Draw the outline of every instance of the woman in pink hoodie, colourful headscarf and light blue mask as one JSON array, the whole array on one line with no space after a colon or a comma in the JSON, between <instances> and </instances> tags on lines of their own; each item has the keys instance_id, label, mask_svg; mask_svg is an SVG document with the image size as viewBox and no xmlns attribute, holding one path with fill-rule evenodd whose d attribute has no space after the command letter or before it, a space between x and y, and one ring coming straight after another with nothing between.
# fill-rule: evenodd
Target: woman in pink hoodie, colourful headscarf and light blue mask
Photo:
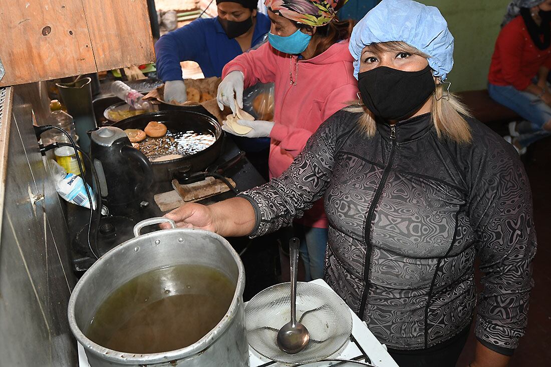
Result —
<instances>
[{"instance_id":1,"label":"woman in pink hoodie, colourful headscarf and light blue mask","mask_svg":"<svg viewBox=\"0 0 551 367\"><path fill-rule=\"evenodd\" d=\"M348 52L352 21L336 13L347 0L266 0L272 27L268 41L226 64L218 88L218 104L235 112L243 107L244 88L274 82L274 122L239 120L250 138L270 137L270 178L279 177L306 141L329 116L357 99L353 58ZM295 222L300 233L306 280L323 277L327 218L322 200Z\"/></svg>"}]
</instances>

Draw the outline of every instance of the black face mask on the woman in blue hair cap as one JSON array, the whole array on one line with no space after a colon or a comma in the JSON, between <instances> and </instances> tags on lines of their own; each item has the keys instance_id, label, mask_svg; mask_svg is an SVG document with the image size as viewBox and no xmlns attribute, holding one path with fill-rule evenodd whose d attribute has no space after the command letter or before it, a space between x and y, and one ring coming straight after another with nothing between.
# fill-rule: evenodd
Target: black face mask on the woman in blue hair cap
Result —
<instances>
[{"instance_id":1,"label":"black face mask on the woman in blue hair cap","mask_svg":"<svg viewBox=\"0 0 551 367\"><path fill-rule=\"evenodd\" d=\"M403 120L419 110L435 90L430 66L404 72L386 66L358 74L365 106L384 120Z\"/></svg>"}]
</instances>

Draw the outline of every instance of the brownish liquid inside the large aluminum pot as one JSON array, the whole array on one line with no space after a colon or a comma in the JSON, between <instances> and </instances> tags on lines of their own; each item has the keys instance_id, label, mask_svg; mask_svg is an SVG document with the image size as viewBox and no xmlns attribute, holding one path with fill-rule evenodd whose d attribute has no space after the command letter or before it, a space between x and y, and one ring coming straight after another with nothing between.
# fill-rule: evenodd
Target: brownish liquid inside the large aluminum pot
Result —
<instances>
[{"instance_id":1,"label":"brownish liquid inside the large aluminum pot","mask_svg":"<svg viewBox=\"0 0 551 367\"><path fill-rule=\"evenodd\" d=\"M235 287L223 273L202 265L155 269L116 289L100 305L86 336L125 353L184 348L222 320Z\"/></svg>"}]
</instances>

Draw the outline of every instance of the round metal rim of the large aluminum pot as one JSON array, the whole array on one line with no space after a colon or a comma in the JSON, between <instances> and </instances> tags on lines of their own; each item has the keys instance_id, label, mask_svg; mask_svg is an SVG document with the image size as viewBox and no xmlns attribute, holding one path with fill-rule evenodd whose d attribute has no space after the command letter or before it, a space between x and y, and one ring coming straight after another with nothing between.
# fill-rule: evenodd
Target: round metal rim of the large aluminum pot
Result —
<instances>
[{"instance_id":1,"label":"round metal rim of the large aluminum pot","mask_svg":"<svg viewBox=\"0 0 551 367\"><path fill-rule=\"evenodd\" d=\"M237 277L237 284L235 287L234 297L231 300L229 309L226 312L226 314L222 317L222 319L220 319L217 325L212 328L212 330L210 330L205 336L203 336L197 342L191 344L191 346L170 350L169 352L145 353L145 354L123 353L123 352L118 352L117 350L102 347L99 344L91 341L87 336L85 336L85 334L82 332L82 330L80 330L80 328L77 325L77 320L75 319L75 315L74 315L74 306L80 291L84 287L84 284L87 282L87 279L91 277L93 270L95 268L99 268L102 265L102 263L105 262L108 258L115 256L117 253L125 251L127 247L133 248L135 246L134 242L137 242L139 240L146 239L149 237L153 237L160 232L165 233L166 231L171 231L174 233L181 233L181 234L185 234L185 233L189 233L190 231L193 231L194 233L204 234L209 237L213 237L217 240L221 240L221 242L226 245L226 247L231 253L231 256L234 258L239 271L239 276ZM226 240L225 238L223 238L222 236L214 232L203 230L203 229L172 228L172 229L158 230L158 231L143 234L141 236L137 236L128 241L125 241L122 244L116 246L114 249L106 252L105 255L101 256L98 260L96 260L96 262L94 262L94 264L88 269L88 271L86 271L83 274L83 276L78 280L77 284L73 288L71 297L69 298L69 304L67 307L69 327L71 328L71 332L73 333L73 336L77 339L77 341L80 344L82 344L86 352L93 353L104 360L109 360L119 364L141 364L141 365L143 365L144 363L145 364L163 363L163 362L170 362L172 360L181 360L183 358L192 357L193 355L204 352L204 350L208 349L212 345L212 343L218 338L219 335L223 334L228 329L231 323L229 322L224 323L224 321L226 319L229 319L231 316L236 316L238 314L239 304L240 303L243 304L242 294L243 294L244 288L245 288L245 267L243 266L241 258L234 250L234 248L229 244L228 240Z\"/></svg>"}]
</instances>

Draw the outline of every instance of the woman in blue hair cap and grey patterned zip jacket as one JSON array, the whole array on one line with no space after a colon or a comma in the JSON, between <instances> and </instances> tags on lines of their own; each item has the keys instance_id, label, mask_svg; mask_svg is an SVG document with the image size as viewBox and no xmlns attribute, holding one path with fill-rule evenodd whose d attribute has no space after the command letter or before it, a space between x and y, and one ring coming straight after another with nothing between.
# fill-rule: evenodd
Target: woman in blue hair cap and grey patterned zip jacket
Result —
<instances>
[{"instance_id":1,"label":"woman in blue hair cap and grey patterned zip jacket","mask_svg":"<svg viewBox=\"0 0 551 367\"><path fill-rule=\"evenodd\" d=\"M455 366L478 256L471 366L506 366L526 327L536 252L518 155L447 91L453 37L436 8L383 0L354 28L350 52L364 106L323 123L279 178L166 216L260 236L324 197L325 280L401 366Z\"/></svg>"}]
</instances>

